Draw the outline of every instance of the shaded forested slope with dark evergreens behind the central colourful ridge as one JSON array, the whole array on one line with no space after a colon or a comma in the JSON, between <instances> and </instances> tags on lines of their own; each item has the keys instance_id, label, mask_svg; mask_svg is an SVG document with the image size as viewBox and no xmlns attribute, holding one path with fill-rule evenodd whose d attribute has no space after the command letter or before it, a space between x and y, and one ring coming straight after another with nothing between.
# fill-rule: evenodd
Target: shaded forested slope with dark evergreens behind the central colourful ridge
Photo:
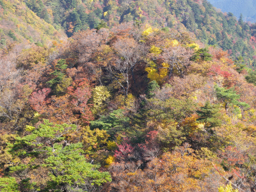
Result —
<instances>
[{"instance_id":1,"label":"shaded forested slope with dark evergreens behind the central colourful ridge","mask_svg":"<svg viewBox=\"0 0 256 192\"><path fill-rule=\"evenodd\" d=\"M234 60L243 56L247 65L256 65L255 26L238 22L232 13L216 11L208 1L29 0L26 6L55 28L63 28L68 36L83 29L113 27L133 20L190 31L204 44L228 51Z\"/></svg>"}]
</instances>

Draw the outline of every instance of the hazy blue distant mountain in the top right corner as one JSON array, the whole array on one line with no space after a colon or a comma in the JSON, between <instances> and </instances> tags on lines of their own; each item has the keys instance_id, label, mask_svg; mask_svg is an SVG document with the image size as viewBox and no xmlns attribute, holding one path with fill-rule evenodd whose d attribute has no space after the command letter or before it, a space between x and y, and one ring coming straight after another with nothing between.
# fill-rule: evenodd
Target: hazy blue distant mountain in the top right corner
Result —
<instances>
[{"instance_id":1,"label":"hazy blue distant mountain in the top right corner","mask_svg":"<svg viewBox=\"0 0 256 192\"><path fill-rule=\"evenodd\" d=\"M216 8L220 8L222 12L231 12L237 17L243 14L244 20L256 21L256 2L253 0L209 0Z\"/></svg>"}]
</instances>

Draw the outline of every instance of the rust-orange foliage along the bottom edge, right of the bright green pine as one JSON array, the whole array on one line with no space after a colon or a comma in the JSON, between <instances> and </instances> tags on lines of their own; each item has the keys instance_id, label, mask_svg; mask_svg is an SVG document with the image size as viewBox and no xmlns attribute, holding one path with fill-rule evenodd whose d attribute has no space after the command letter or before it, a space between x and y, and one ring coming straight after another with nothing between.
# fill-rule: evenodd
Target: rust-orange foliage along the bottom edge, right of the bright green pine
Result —
<instances>
[{"instance_id":1,"label":"rust-orange foliage along the bottom edge, right of the bright green pine","mask_svg":"<svg viewBox=\"0 0 256 192\"><path fill-rule=\"evenodd\" d=\"M155 157L143 171L140 166L140 162L112 164L108 191L214 191L221 181L211 162L197 159L188 144Z\"/></svg>"}]
</instances>

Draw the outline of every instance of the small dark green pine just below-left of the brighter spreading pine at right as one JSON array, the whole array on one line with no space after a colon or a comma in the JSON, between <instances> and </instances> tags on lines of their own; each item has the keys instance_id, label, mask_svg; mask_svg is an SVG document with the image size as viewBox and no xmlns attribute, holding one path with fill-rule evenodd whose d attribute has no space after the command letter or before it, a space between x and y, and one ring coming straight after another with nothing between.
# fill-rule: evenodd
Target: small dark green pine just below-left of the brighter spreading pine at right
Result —
<instances>
[{"instance_id":1,"label":"small dark green pine just below-left of the brighter spreading pine at right","mask_svg":"<svg viewBox=\"0 0 256 192\"><path fill-rule=\"evenodd\" d=\"M196 111L196 113L200 116L197 121L205 123L205 128L218 127L221 125L220 106L212 105L208 100L205 106L200 108L199 111Z\"/></svg>"}]
</instances>

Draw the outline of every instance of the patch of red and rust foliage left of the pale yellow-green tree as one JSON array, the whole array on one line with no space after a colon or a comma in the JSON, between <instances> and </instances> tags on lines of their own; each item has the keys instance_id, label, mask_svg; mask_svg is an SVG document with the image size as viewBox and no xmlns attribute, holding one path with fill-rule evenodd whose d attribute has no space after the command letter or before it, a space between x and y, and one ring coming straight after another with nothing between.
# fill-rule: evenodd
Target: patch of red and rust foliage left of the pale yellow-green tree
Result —
<instances>
[{"instance_id":1,"label":"patch of red and rust foliage left of the pale yellow-green tree","mask_svg":"<svg viewBox=\"0 0 256 192\"><path fill-rule=\"evenodd\" d=\"M50 88L43 88L33 92L29 98L32 109L51 119L52 122L81 121L88 124L93 120L88 100L92 97L90 84L87 79L74 81L67 88L65 95L51 95Z\"/></svg>"}]
</instances>

